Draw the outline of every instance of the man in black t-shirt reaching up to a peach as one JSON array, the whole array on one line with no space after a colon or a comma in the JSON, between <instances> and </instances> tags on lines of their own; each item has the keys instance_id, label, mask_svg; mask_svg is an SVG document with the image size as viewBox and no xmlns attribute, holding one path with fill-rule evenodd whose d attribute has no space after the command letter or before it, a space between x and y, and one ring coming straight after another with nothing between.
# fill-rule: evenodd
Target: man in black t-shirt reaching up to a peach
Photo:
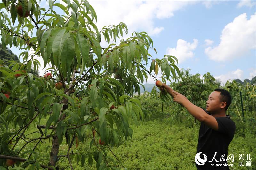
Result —
<instances>
[{"instance_id":1,"label":"man in black t-shirt reaching up to a peach","mask_svg":"<svg viewBox=\"0 0 256 170\"><path fill-rule=\"evenodd\" d=\"M228 145L235 134L235 123L226 115L231 104L231 95L227 90L215 89L206 101L206 110L191 103L185 96L162 84L172 96L173 101L185 107L188 112L201 122L195 156L199 170L229 170L227 160L233 163L234 157L228 155Z\"/></svg>"}]
</instances>

